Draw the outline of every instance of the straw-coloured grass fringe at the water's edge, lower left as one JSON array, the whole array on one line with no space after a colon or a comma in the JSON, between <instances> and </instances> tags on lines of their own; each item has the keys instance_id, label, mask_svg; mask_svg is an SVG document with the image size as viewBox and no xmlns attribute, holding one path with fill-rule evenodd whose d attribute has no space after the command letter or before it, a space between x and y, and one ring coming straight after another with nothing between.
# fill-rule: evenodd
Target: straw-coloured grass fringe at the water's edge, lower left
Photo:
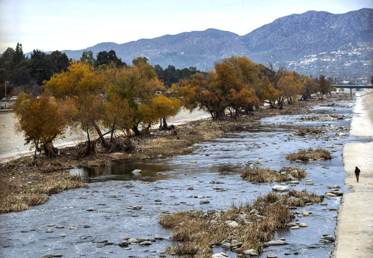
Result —
<instances>
[{"instance_id":1,"label":"straw-coloured grass fringe at the water's edge, lower left","mask_svg":"<svg viewBox=\"0 0 373 258\"><path fill-rule=\"evenodd\" d=\"M44 194L50 195L83 186L81 175L67 172L54 172L48 175L29 173L27 179L39 183L25 184L20 192L3 194L0 197L0 213L23 211L31 205L46 203L49 198Z\"/></svg>"}]
</instances>

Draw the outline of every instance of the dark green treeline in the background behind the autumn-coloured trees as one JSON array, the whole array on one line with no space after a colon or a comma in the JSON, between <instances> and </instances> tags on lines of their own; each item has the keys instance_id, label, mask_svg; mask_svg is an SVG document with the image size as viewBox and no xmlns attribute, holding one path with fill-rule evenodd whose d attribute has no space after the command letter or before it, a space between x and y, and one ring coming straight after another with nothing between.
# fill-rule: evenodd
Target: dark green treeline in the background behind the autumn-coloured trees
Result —
<instances>
[{"instance_id":1,"label":"dark green treeline in the background behind the autumn-coloured trees","mask_svg":"<svg viewBox=\"0 0 373 258\"><path fill-rule=\"evenodd\" d=\"M148 60L146 57L141 57ZM80 61L90 63L95 68L105 69L110 63L115 63L117 67L127 66L122 59L116 56L114 50L109 52L101 51L94 57L92 51L84 51ZM0 96L5 96L5 82L7 96L18 95L20 92L30 93L38 96L44 92L43 81L50 80L51 76L61 71L67 71L72 62L65 53L59 50L46 54L39 49L34 49L30 57L23 53L22 44L17 43L15 49L8 47L0 56ZM160 65L154 65L154 70L160 81L165 86L171 87L172 83L178 83L179 79L190 79L191 75L200 72L194 66L184 69L176 69L169 65L163 69Z\"/></svg>"}]
</instances>

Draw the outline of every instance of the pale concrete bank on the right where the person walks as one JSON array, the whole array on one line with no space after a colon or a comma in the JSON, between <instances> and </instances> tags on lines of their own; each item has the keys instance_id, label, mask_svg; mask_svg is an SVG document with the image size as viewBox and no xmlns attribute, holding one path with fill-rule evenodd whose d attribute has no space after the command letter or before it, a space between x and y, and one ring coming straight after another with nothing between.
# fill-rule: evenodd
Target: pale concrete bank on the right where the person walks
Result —
<instances>
[{"instance_id":1,"label":"pale concrete bank on the right where the person walks","mask_svg":"<svg viewBox=\"0 0 373 258\"><path fill-rule=\"evenodd\" d=\"M356 96L350 135L370 142L347 143L342 151L345 184L351 186L351 193L343 196L339 206L332 258L373 257L373 90ZM361 170L359 183L355 166Z\"/></svg>"}]
</instances>

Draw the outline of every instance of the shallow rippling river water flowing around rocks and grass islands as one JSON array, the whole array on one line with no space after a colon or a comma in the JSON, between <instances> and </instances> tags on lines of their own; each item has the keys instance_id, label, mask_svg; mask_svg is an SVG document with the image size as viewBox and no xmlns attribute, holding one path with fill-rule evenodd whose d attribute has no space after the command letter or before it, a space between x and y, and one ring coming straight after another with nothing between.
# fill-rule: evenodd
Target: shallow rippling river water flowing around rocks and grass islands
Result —
<instances>
[{"instance_id":1,"label":"shallow rippling river water flowing around rocks and grass islands","mask_svg":"<svg viewBox=\"0 0 373 258\"><path fill-rule=\"evenodd\" d=\"M343 104L352 106L352 102ZM352 108L315 106L311 112L351 116ZM46 252L63 254L63 257L159 257L160 251L174 244L169 239L172 233L157 222L160 211L192 208L219 210L228 208L232 202L251 202L258 195L271 190L273 184L252 184L240 177L240 171L246 167L247 161L272 169L295 165L306 168L306 178L313 180L314 185L306 185L304 179L294 186L297 190L306 188L324 194L329 190L327 186L340 185L340 190L347 192L348 189L344 187L342 147L334 148L336 152L332 154L335 158L331 160L301 164L286 160L285 154L299 148L358 141L352 136L336 139L338 136L335 136L335 131L329 132L329 138L335 139L329 141L294 136L298 128L305 126L333 124L335 127L342 125L348 128L350 119L320 122L301 120L301 116L304 115L279 115L261 119L260 125L232 128L220 139L196 144L200 148L191 155L73 170L84 176L84 182L89 188L52 195L49 202L32 206L27 211L0 214L0 257L41 257ZM345 132L348 134L348 131ZM258 159L261 164L256 164ZM197 163L190 163L191 160ZM133 174L134 169L143 172ZM210 184L210 181L222 181L224 184ZM187 190L189 186L194 187L194 190ZM218 192L213 190L214 186L227 190ZM200 205L201 199L194 196L201 195L210 203ZM156 199L161 202L155 202ZM264 258L268 253L275 253L278 257L329 257L333 243L320 244L319 240L324 233L333 234L336 211L329 211L328 208L338 208L340 200L341 197L325 198L327 206L314 204L299 207L297 211L312 212L308 217L297 218L298 222L307 223L308 227L276 233L275 239L285 237L289 245L270 246L258 257ZM141 205L143 209L127 208L133 205ZM88 207L96 211L86 211ZM65 228L56 229L48 224ZM79 229L69 230L69 226ZM54 232L45 233L49 228ZM60 237L61 233L65 233L66 237ZM164 240L156 240L150 246L129 245L131 250L118 245L101 247L102 244L97 243L102 240L119 243L124 237L156 236ZM236 257L235 253L227 249L213 251ZM293 254L295 251L299 253L298 256ZM285 255L285 252L291 255Z\"/></svg>"}]
</instances>

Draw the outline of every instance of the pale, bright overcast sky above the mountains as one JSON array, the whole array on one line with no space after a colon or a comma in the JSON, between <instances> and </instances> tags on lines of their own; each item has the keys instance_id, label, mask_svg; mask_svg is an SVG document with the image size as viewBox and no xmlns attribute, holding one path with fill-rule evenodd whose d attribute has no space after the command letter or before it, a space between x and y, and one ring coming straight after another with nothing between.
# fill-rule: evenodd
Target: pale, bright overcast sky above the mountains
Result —
<instances>
[{"instance_id":1,"label":"pale, bright overcast sky above the mountains","mask_svg":"<svg viewBox=\"0 0 373 258\"><path fill-rule=\"evenodd\" d=\"M0 0L0 53L78 50L185 31L244 35L282 16L308 10L346 13L373 0Z\"/></svg>"}]
</instances>

